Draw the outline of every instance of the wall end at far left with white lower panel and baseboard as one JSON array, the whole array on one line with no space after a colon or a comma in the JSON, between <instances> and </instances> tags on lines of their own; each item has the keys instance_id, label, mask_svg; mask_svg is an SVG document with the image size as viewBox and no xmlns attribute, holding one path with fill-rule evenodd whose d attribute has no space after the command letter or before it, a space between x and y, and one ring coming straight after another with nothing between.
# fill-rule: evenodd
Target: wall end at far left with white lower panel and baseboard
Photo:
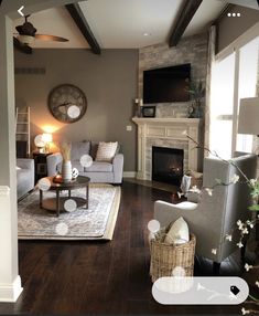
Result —
<instances>
[{"instance_id":1,"label":"wall end at far left with white lower panel and baseboard","mask_svg":"<svg viewBox=\"0 0 259 316\"><path fill-rule=\"evenodd\" d=\"M18 274L17 170L12 21L0 13L0 302L22 292Z\"/></svg>"}]
</instances>

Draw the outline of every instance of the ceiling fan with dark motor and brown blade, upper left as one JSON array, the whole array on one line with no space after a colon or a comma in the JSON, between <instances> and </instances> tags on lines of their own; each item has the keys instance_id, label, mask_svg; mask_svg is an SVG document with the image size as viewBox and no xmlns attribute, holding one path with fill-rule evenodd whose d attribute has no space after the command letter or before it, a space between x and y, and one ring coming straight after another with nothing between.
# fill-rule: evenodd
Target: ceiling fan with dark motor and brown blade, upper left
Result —
<instances>
[{"instance_id":1,"label":"ceiling fan with dark motor and brown blade, upper left","mask_svg":"<svg viewBox=\"0 0 259 316\"><path fill-rule=\"evenodd\" d=\"M68 40L61 36L50 35L50 34L36 34L36 29L31 22L28 21L30 15L25 15L25 22L22 25L18 25L15 29L18 31L17 38L13 38L13 43L20 51L31 54L32 48L30 46L34 40L41 41L55 41L55 42L67 42Z\"/></svg>"}]
</instances>

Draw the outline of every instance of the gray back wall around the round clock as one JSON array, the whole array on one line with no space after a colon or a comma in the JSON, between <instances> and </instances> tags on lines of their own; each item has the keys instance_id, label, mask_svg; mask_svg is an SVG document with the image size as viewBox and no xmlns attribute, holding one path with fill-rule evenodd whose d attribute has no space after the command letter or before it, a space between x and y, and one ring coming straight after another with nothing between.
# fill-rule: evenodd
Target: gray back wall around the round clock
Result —
<instances>
[{"instance_id":1,"label":"gray back wall around the round clock","mask_svg":"<svg viewBox=\"0 0 259 316\"><path fill-rule=\"evenodd\" d=\"M137 96L138 50L34 50L15 52L15 67L45 67L45 74L17 74L17 106L31 107L32 139L44 127L56 129L54 141L118 140L125 154L125 170L136 170L136 126L131 123ZM71 83L82 88L88 108L77 123L61 124L47 109L47 95L56 85ZM126 126L132 125L132 131Z\"/></svg>"}]
</instances>

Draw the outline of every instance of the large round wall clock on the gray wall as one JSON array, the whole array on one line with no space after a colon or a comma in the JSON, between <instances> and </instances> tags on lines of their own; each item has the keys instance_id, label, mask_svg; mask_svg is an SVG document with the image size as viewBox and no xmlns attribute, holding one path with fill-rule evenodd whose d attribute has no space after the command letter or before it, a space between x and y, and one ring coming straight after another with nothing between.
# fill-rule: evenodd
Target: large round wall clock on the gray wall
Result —
<instances>
[{"instance_id":1,"label":"large round wall clock on the gray wall","mask_svg":"<svg viewBox=\"0 0 259 316\"><path fill-rule=\"evenodd\" d=\"M62 84L51 91L47 106L57 120L74 123L79 120L86 113L87 101L84 92L77 86Z\"/></svg>"}]
</instances>

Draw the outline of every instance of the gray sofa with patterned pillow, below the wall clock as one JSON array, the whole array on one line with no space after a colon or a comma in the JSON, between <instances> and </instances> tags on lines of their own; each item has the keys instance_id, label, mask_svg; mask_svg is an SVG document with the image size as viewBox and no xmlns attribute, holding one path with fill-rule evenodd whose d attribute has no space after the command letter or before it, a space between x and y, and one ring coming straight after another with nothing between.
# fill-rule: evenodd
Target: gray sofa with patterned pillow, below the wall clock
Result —
<instances>
[{"instance_id":1,"label":"gray sofa with patterned pillow, below the wall clock","mask_svg":"<svg viewBox=\"0 0 259 316\"><path fill-rule=\"evenodd\" d=\"M123 173L123 155L115 155L111 162L95 161L98 143L94 141L74 141L72 143L71 161L72 167L77 168L80 176L89 177L91 182L105 183L121 183ZM90 155L93 165L90 167L83 167L80 165L80 157L83 155ZM62 169L62 155L55 152L47 156L47 176L55 176Z\"/></svg>"}]
</instances>

